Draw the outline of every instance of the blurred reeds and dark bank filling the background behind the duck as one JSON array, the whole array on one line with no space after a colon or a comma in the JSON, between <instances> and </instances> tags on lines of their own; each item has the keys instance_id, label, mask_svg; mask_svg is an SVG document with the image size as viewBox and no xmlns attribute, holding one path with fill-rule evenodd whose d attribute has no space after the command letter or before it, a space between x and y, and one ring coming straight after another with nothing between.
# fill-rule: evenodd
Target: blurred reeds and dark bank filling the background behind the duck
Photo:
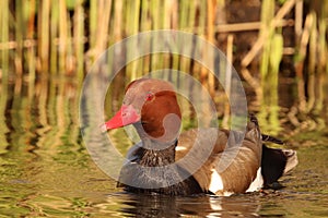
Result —
<instances>
[{"instance_id":1,"label":"blurred reeds and dark bank filling the background behind the duck","mask_svg":"<svg viewBox=\"0 0 328 218\"><path fill-rule=\"evenodd\" d=\"M1 95L36 96L37 104L51 102L54 95L56 123L65 122L59 110L66 98L74 99L78 111L83 78L110 45L140 32L178 29L226 55L245 82L250 110L259 112L268 131L278 133L281 122L323 128L317 120L308 123L308 114L320 117L326 99L328 1L1 0L0 8ZM192 74L218 95L218 82L206 68L167 55L128 65L117 87L168 66ZM119 95L115 90L113 99ZM8 107L3 98L2 112ZM229 113L224 110L222 116Z\"/></svg>"}]
</instances>

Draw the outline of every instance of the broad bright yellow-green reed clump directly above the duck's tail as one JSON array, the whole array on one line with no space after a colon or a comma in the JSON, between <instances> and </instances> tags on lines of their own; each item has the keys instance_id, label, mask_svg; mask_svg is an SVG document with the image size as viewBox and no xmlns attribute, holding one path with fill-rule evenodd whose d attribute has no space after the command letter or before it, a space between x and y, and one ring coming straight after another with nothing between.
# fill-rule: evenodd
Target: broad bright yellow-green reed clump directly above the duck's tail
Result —
<instances>
[{"instance_id":1,"label":"broad bright yellow-green reed clump directly above the duck's tail","mask_svg":"<svg viewBox=\"0 0 328 218\"><path fill-rule=\"evenodd\" d=\"M271 133L277 133L279 124L278 106L278 75L279 65L282 59L283 38L281 33L272 25L274 17L274 1L265 0L261 8L260 35L265 37L263 51L260 62L260 113L259 120L269 123Z\"/></svg>"}]
</instances>

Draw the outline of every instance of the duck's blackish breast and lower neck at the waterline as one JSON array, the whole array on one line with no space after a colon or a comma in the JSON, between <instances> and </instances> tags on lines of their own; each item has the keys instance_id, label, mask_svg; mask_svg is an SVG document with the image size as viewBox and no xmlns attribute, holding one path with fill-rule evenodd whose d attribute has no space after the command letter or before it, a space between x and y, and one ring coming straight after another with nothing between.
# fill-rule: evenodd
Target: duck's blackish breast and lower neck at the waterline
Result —
<instances>
[{"instance_id":1,"label":"duck's blackish breast and lower neck at the waterline","mask_svg":"<svg viewBox=\"0 0 328 218\"><path fill-rule=\"evenodd\" d=\"M161 152L144 149L140 146L142 145L134 145L133 157L128 157L129 160L122 167L118 186L124 186L126 191L134 193L168 195L202 193L192 175L183 178L187 173L184 168L179 166L165 168L174 164L174 159L167 158L167 153L174 154L175 145ZM137 166L141 166L142 169L136 169ZM159 167L164 167L165 170L156 169ZM174 180L177 180L177 182L169 183Z\"/></svg>"}]
</instances>

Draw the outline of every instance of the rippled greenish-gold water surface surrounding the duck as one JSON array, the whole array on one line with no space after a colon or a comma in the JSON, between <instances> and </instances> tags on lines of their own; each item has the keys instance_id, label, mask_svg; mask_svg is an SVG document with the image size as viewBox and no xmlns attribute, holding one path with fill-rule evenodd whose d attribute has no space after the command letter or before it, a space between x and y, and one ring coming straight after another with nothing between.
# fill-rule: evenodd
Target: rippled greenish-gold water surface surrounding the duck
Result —
<instances>
[{"instance_id":1,"label":"rippled greenish-gold water surface surrounding the duck","mask_svg":"<svg viewBox=\"0 0 328 218\"><path fill-rule=\"evenodd\" d=\"M328 217L325 129L289 138L300 164L282 178L280 191L136 195L117 189L86 152L79 130L79 84L52 80L1 88L0 217Z\"/></svg>"}]
</instances>

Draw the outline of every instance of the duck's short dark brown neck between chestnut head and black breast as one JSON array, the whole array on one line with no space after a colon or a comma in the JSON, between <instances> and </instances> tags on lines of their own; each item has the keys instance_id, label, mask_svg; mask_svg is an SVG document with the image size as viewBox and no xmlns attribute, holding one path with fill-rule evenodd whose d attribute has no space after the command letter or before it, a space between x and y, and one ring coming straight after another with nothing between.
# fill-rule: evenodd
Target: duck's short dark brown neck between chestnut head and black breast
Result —
<instances>
[{"instance_id":1,"label":"duck's short dark brown neck between chestnut head and black breast","mask_svg":"<svg viewBox=\"0 0 328 218\"><path fill-rule=\"evenodd\" d=\"M142 138L142 148L139 150L139 165L145 167L163 167L175 161L177 141L167 143Z\"/></svg>"}]
</instances>

